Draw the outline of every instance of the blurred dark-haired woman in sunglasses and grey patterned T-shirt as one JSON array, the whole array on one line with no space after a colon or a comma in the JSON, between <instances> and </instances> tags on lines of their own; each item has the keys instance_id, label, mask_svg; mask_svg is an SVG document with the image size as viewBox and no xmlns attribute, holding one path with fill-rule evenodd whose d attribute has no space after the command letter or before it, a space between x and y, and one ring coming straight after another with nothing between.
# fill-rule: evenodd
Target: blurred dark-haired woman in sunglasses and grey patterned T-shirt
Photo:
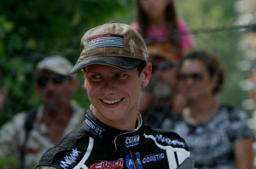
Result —
<instances>
[{"instance_id":1,"label":"blurred dark-haired woman in sunglasses and grey patterned T-shirt","mask_svg":"<svg viewBox=\"0 0 256 169\"><path fill-rule=\"evenodd\" d=\"M255 136L244 111L216 99L224 85L224 69L206 51L185 56L178 66L186 108L176 121L197 168L253 168Z\"/></svg>"}]
</instances>

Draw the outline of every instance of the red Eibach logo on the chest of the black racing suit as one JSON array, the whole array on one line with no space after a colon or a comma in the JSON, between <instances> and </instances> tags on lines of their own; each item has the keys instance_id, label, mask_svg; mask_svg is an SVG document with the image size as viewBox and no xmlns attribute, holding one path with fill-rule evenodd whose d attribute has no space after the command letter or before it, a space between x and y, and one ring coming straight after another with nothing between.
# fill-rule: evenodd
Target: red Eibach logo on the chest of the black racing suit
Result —
<instances>
[{"instance_id":1,"label":"red Eibach logo on the chest of the black racing suit","mask_svg":"<svg viewBox=\"0 0 256 169\"><path fill-rule=\"evenodd\" d=\"M122 169L123 164L123 159L119 159L118 161L101 161L90 166L90 169Z\"/></svg>"}]
</instances>

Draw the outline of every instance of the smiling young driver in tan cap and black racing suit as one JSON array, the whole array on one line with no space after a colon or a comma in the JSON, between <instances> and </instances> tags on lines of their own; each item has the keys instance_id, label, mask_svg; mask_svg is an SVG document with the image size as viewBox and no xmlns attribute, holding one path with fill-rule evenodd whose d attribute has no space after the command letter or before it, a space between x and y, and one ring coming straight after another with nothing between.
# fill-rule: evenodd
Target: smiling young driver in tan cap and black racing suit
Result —
<instances>
[{"instance_id":1,"label":"smiling young driver in tan cap and black racing suit","mask_svg":"<svg viewBox=\"0 0 256 169\"><path fill-rule=\"evenodd\" d=\"M84 34L80 51L71 73L83 71L90 109L81 127L46 151L38 169L193 168L183 138L143 124L139 98L152 65L137 31L118 23L97 26Z\"/></svg>"}]
</instances>

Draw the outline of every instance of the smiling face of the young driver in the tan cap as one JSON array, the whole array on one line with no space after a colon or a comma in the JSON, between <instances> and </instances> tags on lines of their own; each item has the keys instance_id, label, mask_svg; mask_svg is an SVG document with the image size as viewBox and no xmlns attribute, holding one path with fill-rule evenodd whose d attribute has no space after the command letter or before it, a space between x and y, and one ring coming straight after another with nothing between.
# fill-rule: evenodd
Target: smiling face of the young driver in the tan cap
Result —
<instances>
[{"instance_id":1,"label":"smiling face of the young driver in the tan cap","mask_svg":"<svg viewBox=\"0 0 256 169\"><path fill-rule=\"evenodd\" d=\"M125 71L108 65L88 65L84 72L92 112L103 123L131 123L136 121L141 87L146 87L151 76L151 64L140 76L137 70ZM113 122L114 121L114 122Z\"/></svg>"}]
</instances>

